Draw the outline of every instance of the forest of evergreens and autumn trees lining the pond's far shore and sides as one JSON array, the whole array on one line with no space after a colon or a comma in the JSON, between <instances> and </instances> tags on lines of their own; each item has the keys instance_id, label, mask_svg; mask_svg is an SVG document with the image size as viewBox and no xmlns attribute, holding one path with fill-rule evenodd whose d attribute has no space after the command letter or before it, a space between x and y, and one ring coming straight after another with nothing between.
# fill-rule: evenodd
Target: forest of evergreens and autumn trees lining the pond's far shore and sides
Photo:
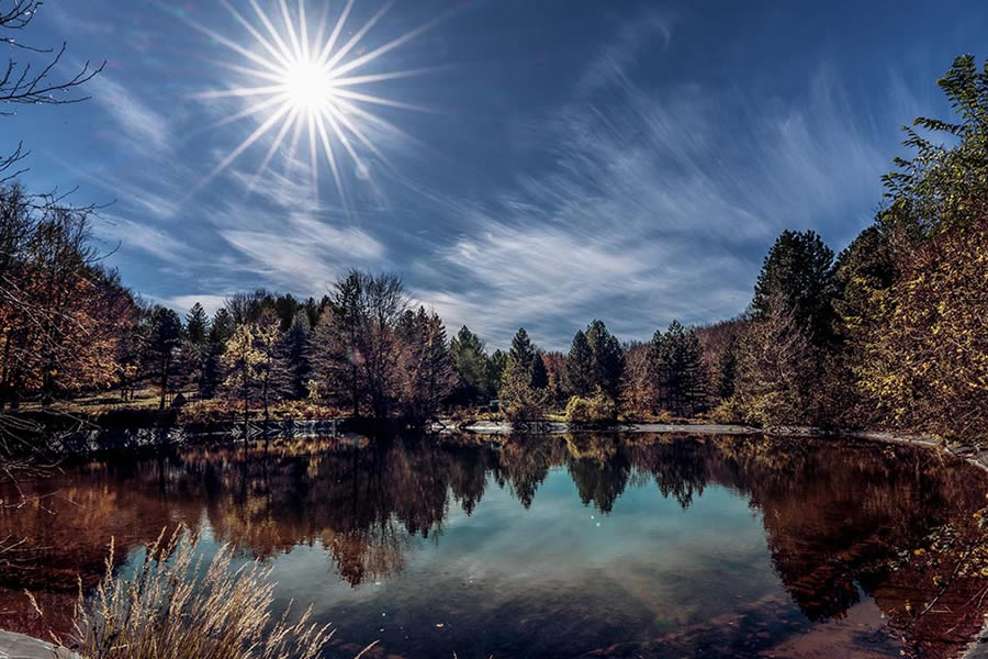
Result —
<instances>
[{"instance_id":1,"label":"forest of evergreens and autumn trees lining the pond's far shore and sides","mask_svg":"<svg viewBox=\"0 0 988 659\"><path fill-rule=\"evenodd\" d=\"M568 353L519 328L490 351L448 332L402 279L351 270L307 299L238 293L181 317L103 265L92 208L0 182L0 422L79 400L269 418L294 405L424 426L440 415L514 422L707 418L759 426L988 435L988 64L938 81L956 114L903 127L874 222L839 254L785 231L749 308L621 342L603 321Z\"/></svg>"}]
</instances>

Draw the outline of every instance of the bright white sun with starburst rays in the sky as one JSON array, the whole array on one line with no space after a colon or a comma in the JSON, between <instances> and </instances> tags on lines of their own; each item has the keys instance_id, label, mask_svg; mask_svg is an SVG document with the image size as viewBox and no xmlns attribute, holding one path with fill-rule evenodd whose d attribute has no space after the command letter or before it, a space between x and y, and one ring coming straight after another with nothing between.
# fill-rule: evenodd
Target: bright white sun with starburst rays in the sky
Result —
<instances>
[{"instance_id":1,"label":"bright white sun with starburst rays in the sky","mask_svg":"<svg viewBox=\"0 0 988 659\"><path fill-rule=\"evenodd\" d=\"M297 0L293 9L288 0L272 0L273 16L258 0L247 0L252 10L249 18L227 0L220 0L249 40L224 36L204 25L189 23L238 56L236 62L218 62L237 74L243 85L212 89L200 98L236 98L243 110L216 122L214 127L245 118L256 118L258 125L236 148L227 154L203 186L229 167L242 154L268 134L273 139L249 187L263 175L282 147L292 159L297 152L308 153L313 188L318 190L321 167L328 166L340 202L346 203L343 169L351 163L357 178L366 179L371 168L366 158L373 157L393 167L371 139L372 134L404 133L394 124L378 116L374 107L423 111L425 108L379 96L377 88L389 80L429 72L429 68L361 74L361 69L395 48L420 35L444 16L435 18L419 27L401 34L374 48L366 48L364 37L384 16L393 2L384 4L361 27L345 37L355 0L348 0L334 22L329 22L328 4L324 3L322 19L311 21L306 9L315 0ZM383 60L382 60L383 62ZM367 90L372 87L371 90ZM363 89L362 91L358 91ZM373 91L373 93L371 92ZM373 129L373 130L371 130ZM303 144L307 142L307 144Z\"/></svg>"}]
</instances>

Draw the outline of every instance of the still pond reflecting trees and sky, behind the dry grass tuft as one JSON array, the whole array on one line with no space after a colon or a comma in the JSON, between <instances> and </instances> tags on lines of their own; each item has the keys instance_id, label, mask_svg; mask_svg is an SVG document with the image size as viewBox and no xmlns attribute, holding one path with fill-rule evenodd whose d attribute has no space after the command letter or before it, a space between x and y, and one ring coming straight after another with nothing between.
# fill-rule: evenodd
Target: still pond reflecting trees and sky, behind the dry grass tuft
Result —
<instances>
[{"instance_id":1,"label":"still pond reflecting trees and sky, behind the dry grass tuft","mask_svg":"<svg viewBox=\"0 0 988 659\"><path fill-rule=\"evenodd\" d=\"M133 558L178 523L270 561L328 657L953 657L988 611L988 474L910 446L285 437L22 489L0 628L33 634L25 589L64 628L111 537Z\"/></svg>"}]
</instances>

